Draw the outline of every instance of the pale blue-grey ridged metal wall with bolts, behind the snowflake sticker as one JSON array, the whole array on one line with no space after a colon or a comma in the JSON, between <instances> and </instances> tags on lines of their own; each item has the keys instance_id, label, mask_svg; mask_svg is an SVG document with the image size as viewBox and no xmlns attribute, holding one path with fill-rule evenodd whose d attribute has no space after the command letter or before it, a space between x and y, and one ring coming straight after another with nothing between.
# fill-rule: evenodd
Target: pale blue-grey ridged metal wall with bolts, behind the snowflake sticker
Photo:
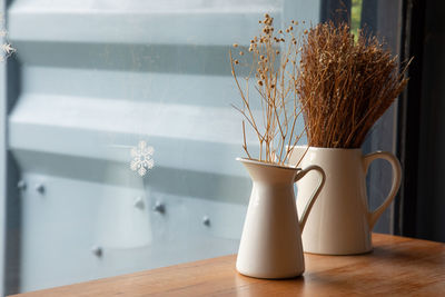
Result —
<instances>
[{"instance_id":1,"label":"pale blue-grey ridged metal wall with bolts, behind the snowflake sticker","mask_svg":"<svg viewBox=\"0 0 445 297\"><path fill-rule=\"evenodd\" d=\"M236 253L250 181L227 53L265 11L319 14L303 0L11 1L8 293ZM145 178L129 169L140 140Z\"/></svg>"}]
</instances>

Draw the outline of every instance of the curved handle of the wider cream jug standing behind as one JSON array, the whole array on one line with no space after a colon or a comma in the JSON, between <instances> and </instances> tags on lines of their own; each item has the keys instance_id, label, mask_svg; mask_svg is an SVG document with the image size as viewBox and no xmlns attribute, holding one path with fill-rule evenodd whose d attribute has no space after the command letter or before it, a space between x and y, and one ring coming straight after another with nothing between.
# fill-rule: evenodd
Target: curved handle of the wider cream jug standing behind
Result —
<instances>
[{"instance_id":1,"label":"curved handle of the wider cream jug standing behind","mask_svg":"<svg viewBox=\"0 0 445 297\"><path fill-rule=\"evenodd\" d=\"M390 190L385 201L374 211L368 211L368 225L369 230L373 230L374 225L377 222L378 218L385 211L385 209L390 205L390 202L396 197L398 188L400 187L402 181L402 167L400 162L393 154L388 151L376 151L363 157L365 174L368 171L369 165L376 159L387 160L393 167L393 185L390 186Z\"/></svg>"}]
</instances>

